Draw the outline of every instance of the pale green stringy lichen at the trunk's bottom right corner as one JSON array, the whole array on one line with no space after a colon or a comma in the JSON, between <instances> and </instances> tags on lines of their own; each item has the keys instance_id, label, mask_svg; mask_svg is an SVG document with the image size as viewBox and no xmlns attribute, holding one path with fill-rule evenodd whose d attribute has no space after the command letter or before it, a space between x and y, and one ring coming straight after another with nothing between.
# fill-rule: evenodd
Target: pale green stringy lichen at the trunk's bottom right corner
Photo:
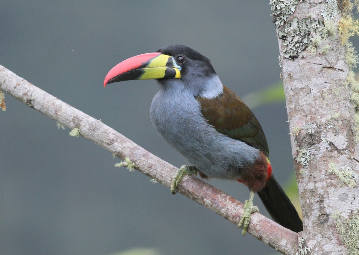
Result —
<instances>
[{"instance_id":1,"label":"pale green stringy lichen at the trunk's bottom right corner","mask_svg":"<svg viewBox=\"0 0 359 255\"><path fill-rule=\"evenodd\" d=\"M333 213L336 221L336 230L340 240L344 243L349 255L359 254L359 214L349 215L348 219L341 216L341 213Z\"/></svg>"}]
</instances>

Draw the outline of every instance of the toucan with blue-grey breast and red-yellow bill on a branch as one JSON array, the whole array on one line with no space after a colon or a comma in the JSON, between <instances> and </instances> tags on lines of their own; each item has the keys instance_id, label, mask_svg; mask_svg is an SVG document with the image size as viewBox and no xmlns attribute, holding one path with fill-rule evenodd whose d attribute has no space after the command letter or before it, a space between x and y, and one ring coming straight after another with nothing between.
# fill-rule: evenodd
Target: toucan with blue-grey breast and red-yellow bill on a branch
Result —
<instances>
[{"instance_id":1,"label":"toucan with blue-grey breast and red-yellow bill on a branch","mask_svg":"<svg viewBox=\"0 0 359 255\"><path fill-rule=\"evenodd\" d=\"M172 178L172 193L185 174L242 182L250 189L239 226L246 233L257 192L272 218L295 232L303 230L289 198L275 181L262 127L252 111L222 85L208 58L184 45L170 45L117 64L104 86L118 81L157 79L160 91L151 120L162 138L190 165Z\"/></svg>"}]
</instances>

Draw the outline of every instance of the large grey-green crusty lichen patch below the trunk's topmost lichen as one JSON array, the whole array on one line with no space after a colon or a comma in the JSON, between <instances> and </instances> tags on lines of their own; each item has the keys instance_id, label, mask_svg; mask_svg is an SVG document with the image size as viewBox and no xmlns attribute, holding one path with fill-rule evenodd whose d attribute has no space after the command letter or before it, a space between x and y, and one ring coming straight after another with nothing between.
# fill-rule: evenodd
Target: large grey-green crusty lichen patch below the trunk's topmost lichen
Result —
<instances>
[{"instance_id":1,"label":"large grey-green crusty lichen patch below the trunk's topmost lichen","mask_svg":"<svg viewBox=\"0 0 359 255\"><path fill-rule=\"evenodd\" d=\"M294 59L299 52L306 49L312 38L323 37L323 20L316 20L311 17L287 21L279 30L278 37L283 44L283 57Z\"/></svg>"}]
</instances>

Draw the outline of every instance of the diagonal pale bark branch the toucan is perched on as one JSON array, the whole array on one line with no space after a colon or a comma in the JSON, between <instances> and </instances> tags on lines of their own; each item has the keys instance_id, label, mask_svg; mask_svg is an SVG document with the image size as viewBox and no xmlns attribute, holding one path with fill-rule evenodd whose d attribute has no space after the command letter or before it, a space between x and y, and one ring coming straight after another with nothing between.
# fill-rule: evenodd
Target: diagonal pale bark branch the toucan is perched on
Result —
<instances>
[{"instance_id":1,"label":"diagonal pale bark branch the toucan is perched on","mask_svg":"<svg viewBox=\"0 0 359 255\"><path fill-rule=\"evenodd\" d=\"M78 129L81 136L102 146L117 157L130 158L131 162L136 164L137 170L171 187L171 178L178 168L149 153L101 121L62 102L1 65L0 90L62 125L70 129ZM242 215L242 203L198 178L186 176L178 187L178 192L236 225ZM298 234L260 213L252 214L247 232L283 254L294 254L297 251ZM238 231L238 236L242 236L240 233Z\"/></svg>"}]
</instances>

